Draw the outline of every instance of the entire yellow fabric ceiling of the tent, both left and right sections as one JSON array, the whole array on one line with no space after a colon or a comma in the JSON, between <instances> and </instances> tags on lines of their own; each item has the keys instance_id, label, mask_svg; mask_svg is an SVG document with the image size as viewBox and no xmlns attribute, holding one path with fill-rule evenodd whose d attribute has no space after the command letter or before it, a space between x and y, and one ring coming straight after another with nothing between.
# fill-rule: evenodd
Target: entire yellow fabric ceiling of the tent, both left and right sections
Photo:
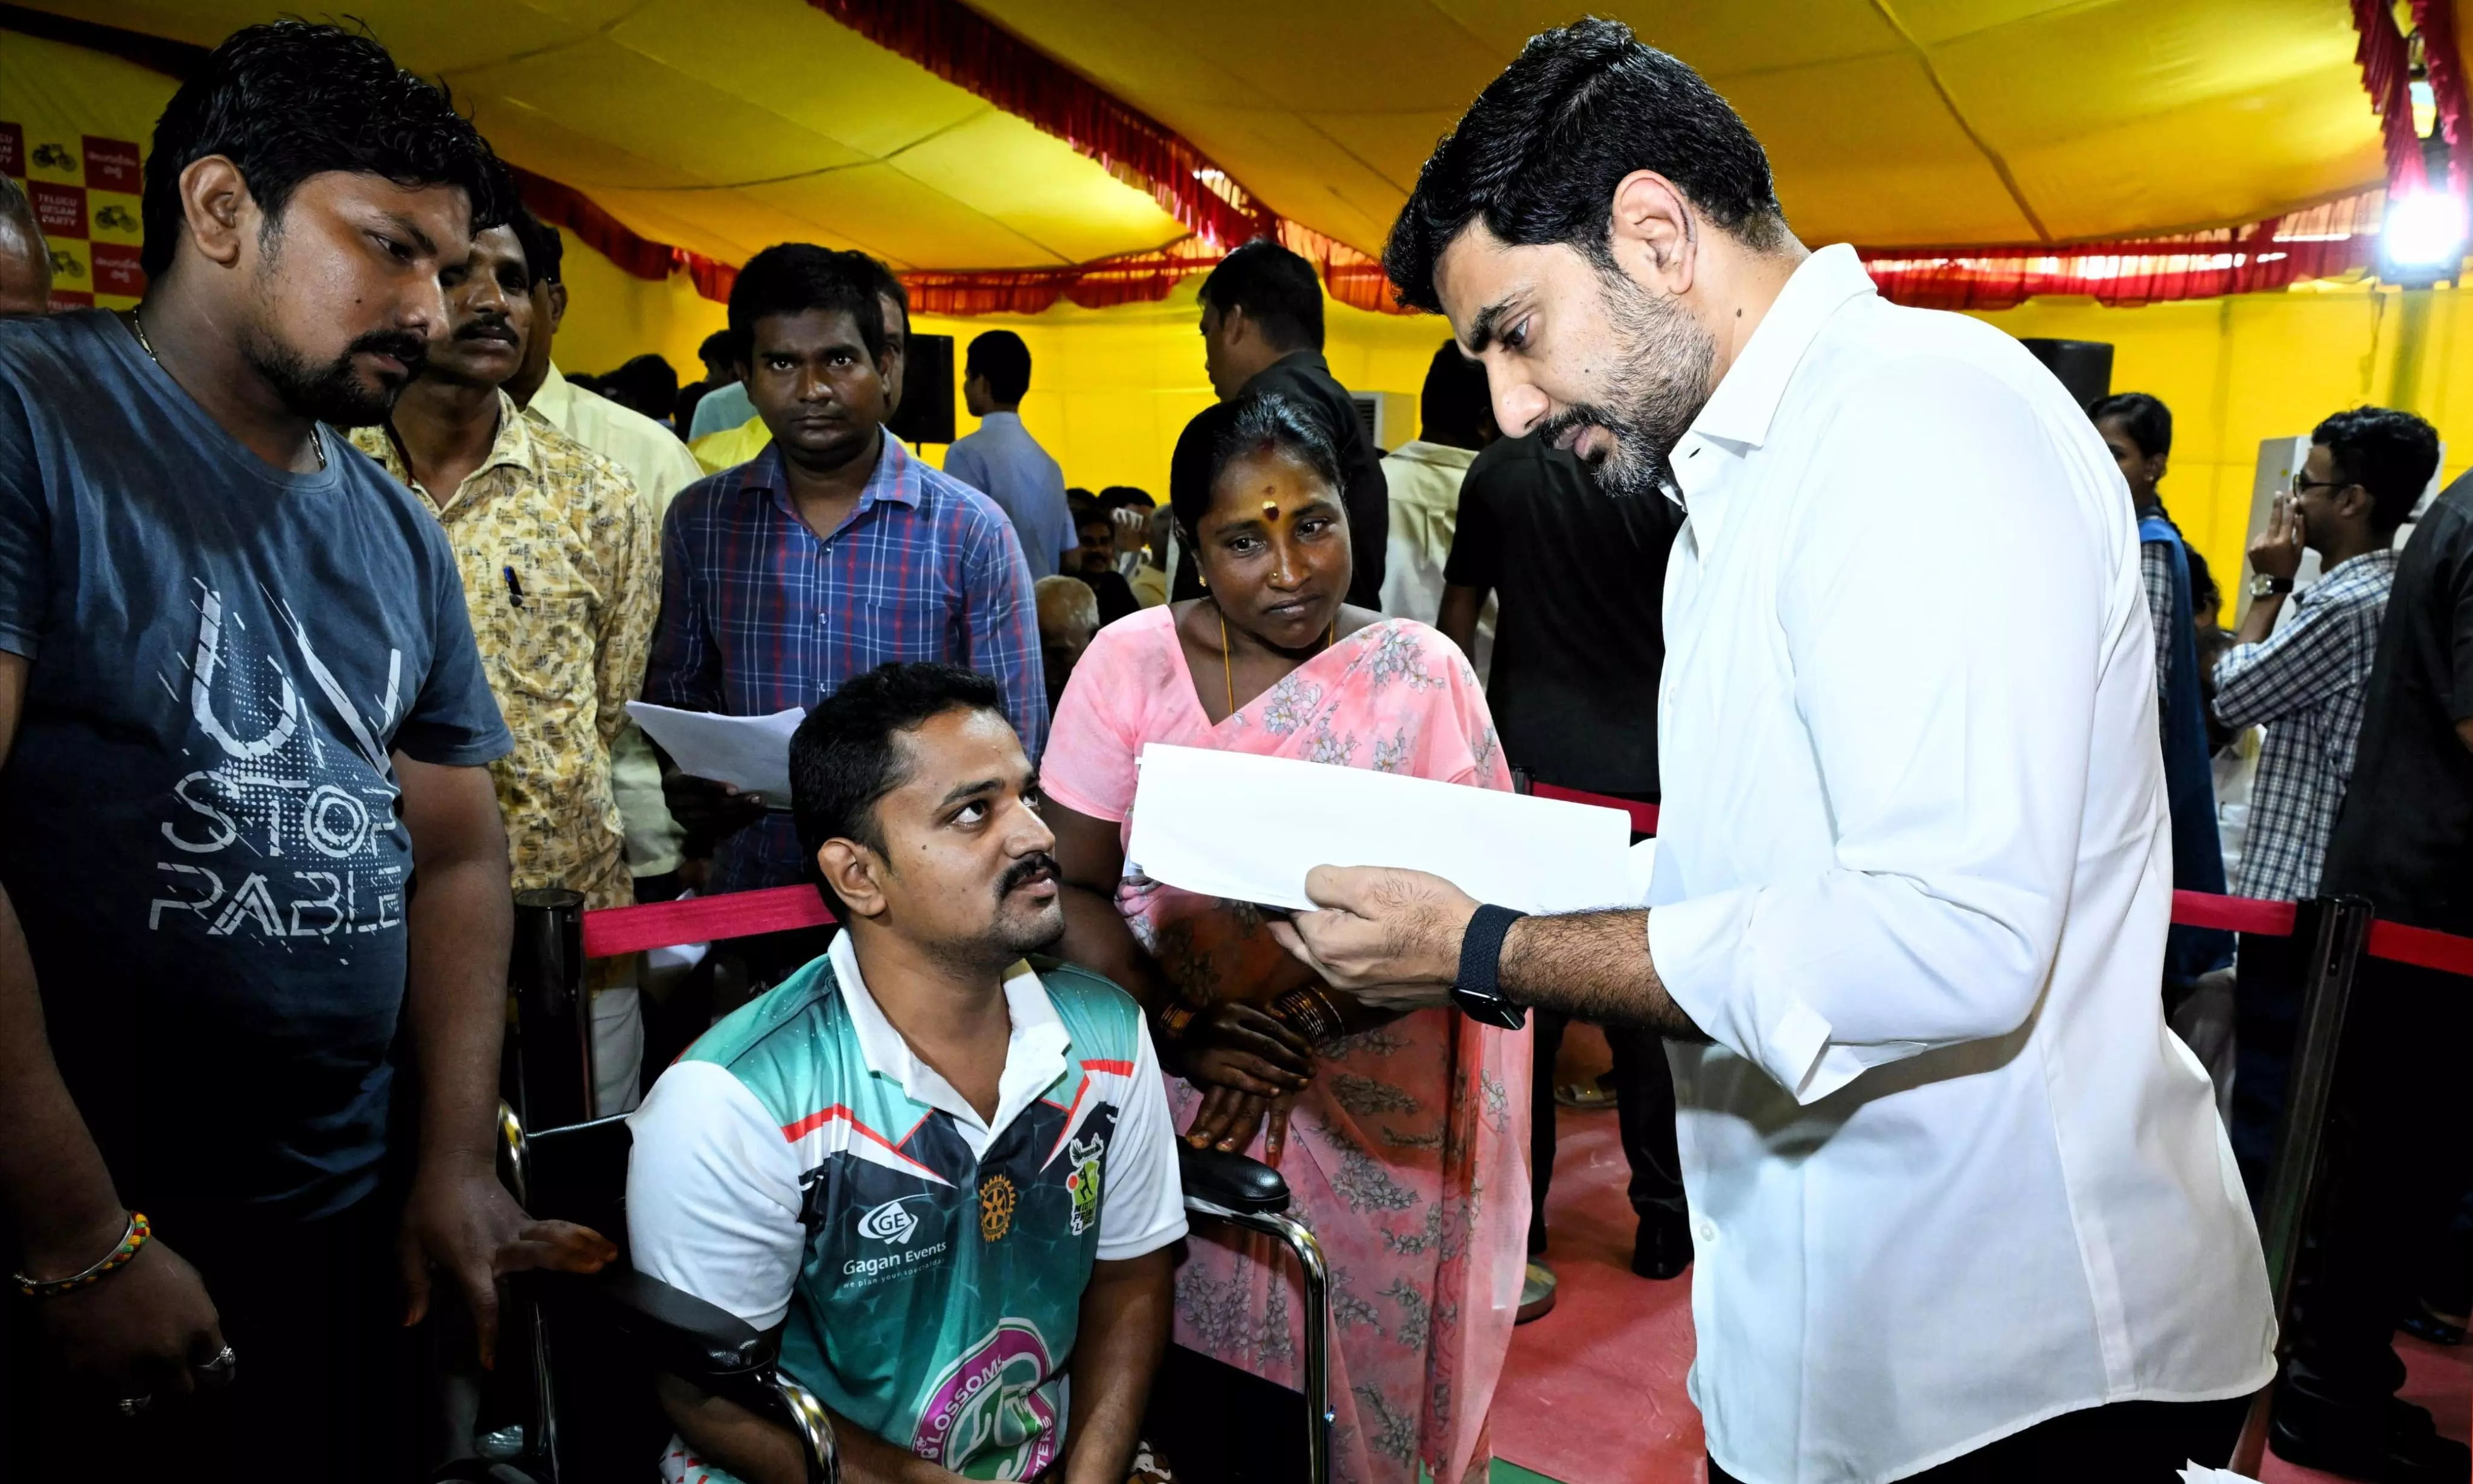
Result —
<instances>
[{"instance_id":1,"label":"entire yellow fabric ceiling of the tent, both left and right sections","mask_svg":"<svg viewBox=\"0 0 2473 1484\"><path fill-rule=\"evenodd\" d=\"M1281 215L1380 250L1432 141L1575 0L972 0ZM42 0L210 45L289 5ZM507 158L727 262L784 237L1044 267L1180 237L1143 190L804 0L356 0ZM1746 114L1805 240L2087 240L2377 186L2344 0L1600 7Z\"/></svg>"}]
</instances>

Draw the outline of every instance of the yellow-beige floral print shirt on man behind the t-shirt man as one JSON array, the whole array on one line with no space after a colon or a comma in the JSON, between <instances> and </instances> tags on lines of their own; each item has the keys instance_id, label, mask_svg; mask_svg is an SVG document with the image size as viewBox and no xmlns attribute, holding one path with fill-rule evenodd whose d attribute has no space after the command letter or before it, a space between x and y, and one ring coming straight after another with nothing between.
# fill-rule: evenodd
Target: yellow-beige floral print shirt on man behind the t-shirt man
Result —
<instances>
[{"instance_id":1,"label":"yellow-beige floral print shirt on man behind the t-shirt man","mask_svg":"<svg viewBox=\"0 0 2473 1484\"><path fill-rule=\"evenodd\" d=\"M455 547L472 638L514 732L514 752L490 764L514 888L628 905L611 740L643 688L660 608L660 529L636 482L507 393L490 458L445 502L420 490L386 428L351 440L430 500Z\"/></svg>"}]
</instances>

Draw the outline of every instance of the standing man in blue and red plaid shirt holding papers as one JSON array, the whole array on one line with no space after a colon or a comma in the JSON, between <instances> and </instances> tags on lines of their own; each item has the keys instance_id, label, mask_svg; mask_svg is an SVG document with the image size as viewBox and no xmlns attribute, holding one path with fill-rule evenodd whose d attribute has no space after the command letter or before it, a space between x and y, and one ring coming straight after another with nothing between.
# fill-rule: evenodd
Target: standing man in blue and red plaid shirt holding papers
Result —
<instances>
[{"instance_id":1,"label":"standing man in blue and red plaid shirt holding papers","mask_svg":"<svg viewBox=\"0 0 2473 1484\"><path fill-rule=\"evenodd\" d=\"M730 289L747 396L772 445L690 485L663 524L660 626L643 697L764 717L811 707L885 660L942 660L1004 690L1036 759L1049 732L1031 571L987 495L885 438L900 359L858 252L781 242ZM767 799L673 774L710 890L806 881L799 831Z\"/></svg>"}]
</instances>

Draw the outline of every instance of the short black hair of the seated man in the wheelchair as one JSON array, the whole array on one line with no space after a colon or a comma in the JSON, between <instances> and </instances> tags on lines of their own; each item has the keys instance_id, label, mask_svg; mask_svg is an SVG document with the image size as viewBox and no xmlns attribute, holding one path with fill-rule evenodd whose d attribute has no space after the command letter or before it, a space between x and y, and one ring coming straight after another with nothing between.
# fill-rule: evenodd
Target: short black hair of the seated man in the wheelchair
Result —
<instances>
[{"instance_id":1,"label":"short black hair of the seated man in the wheelchair","mask_svg":"<svg viewBox=\"0 0 2473 1484\"><path fill-rule=\"evenodd\" d=\"M1004 715L1004 690L960 665L875 665L816 702L789 737L789 809L816 890L848 923L848 905L816 873L826 841L885 853L875 804L905 782L898 737L950 710Z\"/></svg>"}]
</instances>

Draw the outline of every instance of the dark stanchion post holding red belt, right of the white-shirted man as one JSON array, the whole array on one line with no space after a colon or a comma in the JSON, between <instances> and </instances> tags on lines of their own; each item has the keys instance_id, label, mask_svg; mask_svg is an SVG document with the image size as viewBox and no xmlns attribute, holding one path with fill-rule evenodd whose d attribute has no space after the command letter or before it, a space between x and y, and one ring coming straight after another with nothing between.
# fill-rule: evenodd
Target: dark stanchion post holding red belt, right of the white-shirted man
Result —
<instances>
[{"instance_id":1,"label":"dark stanchion post holding red belt, right of the white-shirted man","mask_svg":"<svg viewBox=\"0 0 2473 1484\"><path fill-rule=\"evenodd\" d=\"M2292 1034L2292 1083L2285 1088L2285 1120L2275 1133L2275 1177L2268 1185L2265 1229L2268 1294L2275 1303L2275 1350L2288 1353L2285 1316L2292 1303L2292 1271L2300 1266L2302 1237L2310 1229L2310 1197L2317 1190L2320 1148L2327 1138L2327 1108L2335 1098L2337 1051L2344 1041L2344 1009L2352 1004L2352 979L2369 952L2372 908L2364 898L2317 898L2300 905L2292 935L2310 942L2302 970L2302 1017ZM2268 1452L2268 1415L2275 1402L2270 1380L2233 1449L2236 1474L2258 1474Z\"/></svg>"}]
</instances>

